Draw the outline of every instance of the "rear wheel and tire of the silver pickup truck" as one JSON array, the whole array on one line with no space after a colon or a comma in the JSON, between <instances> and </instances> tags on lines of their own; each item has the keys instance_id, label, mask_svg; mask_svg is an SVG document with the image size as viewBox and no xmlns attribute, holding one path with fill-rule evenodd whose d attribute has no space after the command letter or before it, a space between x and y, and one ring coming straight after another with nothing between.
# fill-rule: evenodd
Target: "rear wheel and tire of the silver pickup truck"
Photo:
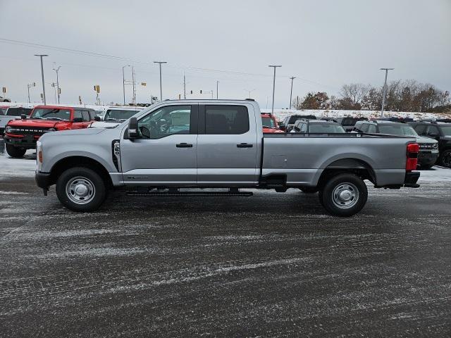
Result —
<instances>
[{"instance_id":1,"label":"rear wheel and tire of the silver pickup truck","mask_svg":"<svg viewBox=\"0 0 451 338\"><path fill-rule=\"evenodd\" d=\"M345 201L340 197L344 194ZM319 191L323 207L332 215L348 217L359 211L366 204L368 190L365 182L354 174L339 174L331 177Z\"/></svg>"}]
</instances>

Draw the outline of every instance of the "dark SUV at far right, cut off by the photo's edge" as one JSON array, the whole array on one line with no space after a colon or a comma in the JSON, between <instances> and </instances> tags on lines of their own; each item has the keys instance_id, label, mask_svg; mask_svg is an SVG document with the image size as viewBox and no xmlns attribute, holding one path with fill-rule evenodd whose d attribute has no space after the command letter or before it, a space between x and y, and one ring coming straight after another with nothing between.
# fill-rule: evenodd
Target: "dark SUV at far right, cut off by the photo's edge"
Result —
<instances>
[{"instance_id":1,"label":"dark SUV at far right, cut off by the photo's edge","mask_svg":"<svg viewBox=\"0 0 451 338\"><path fill-rule=\"evenodd\" d=\"M440 152L438 164L451 168L451 123L419 121L410 125L419 135L437 140Z\"/></svg>"}]
</instances>

